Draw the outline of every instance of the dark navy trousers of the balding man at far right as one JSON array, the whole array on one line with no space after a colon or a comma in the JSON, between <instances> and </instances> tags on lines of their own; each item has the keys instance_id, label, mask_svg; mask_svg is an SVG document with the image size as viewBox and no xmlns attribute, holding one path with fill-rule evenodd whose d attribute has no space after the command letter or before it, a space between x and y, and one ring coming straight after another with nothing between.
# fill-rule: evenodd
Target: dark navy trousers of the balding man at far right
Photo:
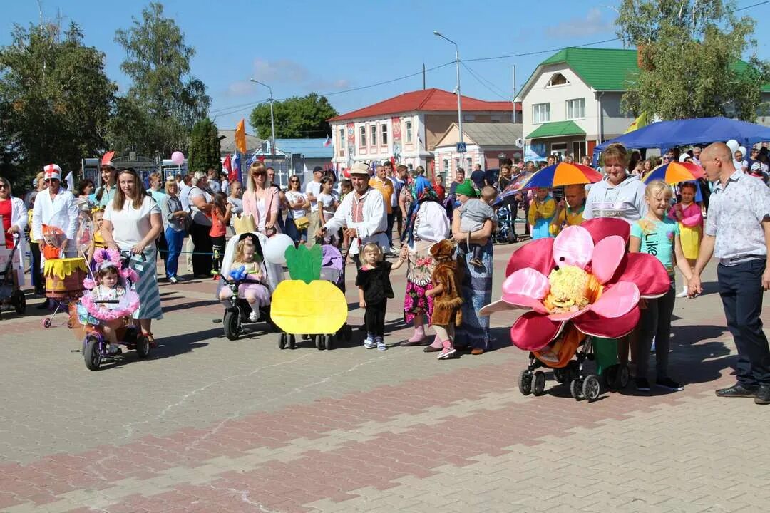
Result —
<instances>
[{"instance_id":1,"label":"dark navy trousers of the balding man at far right","mask_svg":"<svg viewBox=\"0 0 770 513\"><path fill-rule=\"evenodd\" d=\"M719 295L727 327L735 338L735 374L745 388L770 385L770 348L762 330L762 273L765 258L737 265L718 265Z\"/></svg>"}]
</instances>

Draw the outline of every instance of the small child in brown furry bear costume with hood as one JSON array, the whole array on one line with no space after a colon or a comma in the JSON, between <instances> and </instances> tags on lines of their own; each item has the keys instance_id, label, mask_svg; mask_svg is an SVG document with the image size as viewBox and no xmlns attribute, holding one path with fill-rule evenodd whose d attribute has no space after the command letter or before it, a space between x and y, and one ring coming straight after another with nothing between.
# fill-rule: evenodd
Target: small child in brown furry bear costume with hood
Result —
<instances>
[{"instance_id":1,"label":"small child in brown furry bear costume with hood","mask_svg":"<svg viewBox=\"0 0 770 513\"><path fill-rule=\"evenodd\" d=\"M460 305L463 304L459 288L461 279L457 262L452 258L454 255L452 242L446 239L437 242L430 248L430 255L433 255L437 265L430 277L433 288L425 294L434 296L434 311L430 317L430 324L433 325L441 345L444 346L437 358L445 360L454 355L455 349L452 343L454 327L459 326L463 321L460 310Z\"/></svg>"}]
</instances>

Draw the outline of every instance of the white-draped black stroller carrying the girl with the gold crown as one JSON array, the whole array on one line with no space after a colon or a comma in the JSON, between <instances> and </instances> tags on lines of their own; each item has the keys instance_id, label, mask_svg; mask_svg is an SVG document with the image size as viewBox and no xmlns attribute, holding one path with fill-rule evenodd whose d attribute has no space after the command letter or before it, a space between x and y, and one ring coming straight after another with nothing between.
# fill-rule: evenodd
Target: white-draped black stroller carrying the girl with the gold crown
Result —
<instances>
[{"instance_id":1,"label":"white-draped black stroller carrying the girl with the gold crown","mask_svg":"<svg viewBox=\"0 0 770 513\"><path fill-rule=\"evenodd\" d=\"M251 326L256 324L267 323L271 328L275 326L270 318L269 305L260 306L259 316L256 320L253 320L250 318L252 309L249 302L239 295L239 288L241 285L247 285L254 282L245 276L240 276L238 269L232 268L236 245L248 235L252 235L253 239L256 241L255 255L259 255L259 259L262 260L261 271L262 275L266 278L263 285L266 286L269 295L273 295L273 291L275 291L278 284L283 280L282 266L270 264L263 259L263 246L267 242L267 237L265 235L262 235L259 232L243 232L229 240L225 248L222 268L219 271L219 286L216 288L217 298L221 297L220 294L224 287L229 288L232 292L232 294L229 295L229 305L225 308L223 318L225 336L228 340L237 340L241 335L250 332Z\"/></svg>"}]
</instances>

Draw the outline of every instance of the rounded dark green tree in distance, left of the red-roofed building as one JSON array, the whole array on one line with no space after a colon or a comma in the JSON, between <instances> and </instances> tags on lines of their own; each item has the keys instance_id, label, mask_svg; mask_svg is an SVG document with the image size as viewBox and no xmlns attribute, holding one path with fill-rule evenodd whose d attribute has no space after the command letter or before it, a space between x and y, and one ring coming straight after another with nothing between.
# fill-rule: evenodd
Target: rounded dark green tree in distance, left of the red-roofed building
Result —
<instances>
[{"instance_id":1,"label":"rounded dark green tree in distance, left of the red-roofed building","mask_svg":"<svg viewBox=\"0 0 770 513\"><path fill-rule=\"evenodd\" d=\"M326 120L338 114L326 96L319 96L314 92L307 96L294 96L283 102L274 102L276 138L326 137L331 133ZM259 138L269 139L272 135L269 103L257 105L249 115L249 122L256 128Z\"/></svg>"}]
</instances>

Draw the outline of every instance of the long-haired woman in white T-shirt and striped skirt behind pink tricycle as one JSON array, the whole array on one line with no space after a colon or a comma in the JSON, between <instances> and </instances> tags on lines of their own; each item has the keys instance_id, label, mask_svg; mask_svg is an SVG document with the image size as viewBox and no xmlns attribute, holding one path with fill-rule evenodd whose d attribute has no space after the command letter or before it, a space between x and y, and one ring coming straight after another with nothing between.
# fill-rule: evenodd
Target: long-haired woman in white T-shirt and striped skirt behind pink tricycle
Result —
<instances>
[{"instance_id":1,"label":"long-haired woman in white T-shirt and striped skirt behind pink tricycle","mask_svg":"<svg viewBox=\"0 0 770 513\"><path fill-rule=\"evenodd\" d=\"M115 198L107 205L102 223L102 237L108 248L131 253L131 268L139 275L134 284L139 295L139 320L142 334L154 347L152 319L162 319L160 293L156 278L155 239L163 229L160 207L147 194L142 178L133 168L121 169Z\"/></svg>"}]
</instances>

